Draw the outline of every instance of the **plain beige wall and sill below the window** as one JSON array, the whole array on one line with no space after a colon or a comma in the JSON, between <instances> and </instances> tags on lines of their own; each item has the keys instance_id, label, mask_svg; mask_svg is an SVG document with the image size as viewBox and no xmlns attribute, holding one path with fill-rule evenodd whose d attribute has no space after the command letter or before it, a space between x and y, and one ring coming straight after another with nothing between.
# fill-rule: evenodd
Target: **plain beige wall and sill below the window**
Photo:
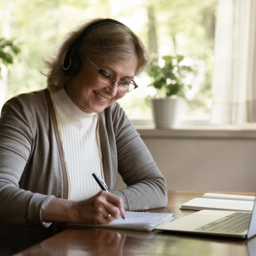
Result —
<instances>
[{"instance_id":1,"label":"plain beige wall and sill below the window","mask_svg":"<svg viewBox=\"0 0 256 256\"><path fill-rule=\"evenodd\" d=\"M138 131L168 189L256 191L255 131Z\"/></svg>"}]
</instances>

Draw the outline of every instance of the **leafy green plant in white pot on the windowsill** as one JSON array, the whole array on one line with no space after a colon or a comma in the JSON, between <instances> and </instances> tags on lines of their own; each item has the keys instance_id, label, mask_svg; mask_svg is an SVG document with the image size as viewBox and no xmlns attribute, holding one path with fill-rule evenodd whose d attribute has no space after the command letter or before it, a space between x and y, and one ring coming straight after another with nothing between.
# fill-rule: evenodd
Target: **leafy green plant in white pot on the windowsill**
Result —
<instances>
[{"instance_id":1,"label":"leafy green plant in white pot on the windowsill","mask_svg":"<svg viewBox=\"0 0 256 256\"><path fill-rule=\"evenodd\" d=\"M151 98L151 108L156 128L174 128L177 123L180 97L185 97L183 79L192 72L184 56L151 56L149 76L157 94Z\"/></svg>"}]
</instances>

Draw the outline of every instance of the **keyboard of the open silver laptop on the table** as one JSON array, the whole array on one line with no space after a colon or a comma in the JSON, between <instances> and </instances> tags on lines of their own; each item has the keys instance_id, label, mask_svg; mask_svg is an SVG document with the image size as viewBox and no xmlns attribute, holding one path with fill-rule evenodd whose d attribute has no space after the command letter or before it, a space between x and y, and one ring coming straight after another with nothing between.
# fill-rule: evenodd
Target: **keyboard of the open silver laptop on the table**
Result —
<instances>
[{"instance_id":1,"label":"keyboard of the open silver laptop on the table","mask_svg":"<svg viewBox=\"0 0 256 256\"><path fill-rule=\"evenodd\" d=\"M198 227L196 231L241 233L248 229L251 213L232 213L212 223Z\"/></svg>"}]
</instances>

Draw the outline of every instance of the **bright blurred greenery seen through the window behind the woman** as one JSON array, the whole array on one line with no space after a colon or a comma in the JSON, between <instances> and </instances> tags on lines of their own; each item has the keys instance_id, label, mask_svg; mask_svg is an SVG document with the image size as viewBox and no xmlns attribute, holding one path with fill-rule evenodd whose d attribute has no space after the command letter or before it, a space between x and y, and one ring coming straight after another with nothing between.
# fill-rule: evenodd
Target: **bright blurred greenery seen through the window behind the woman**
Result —
<instances>
[{"instance_id":1,"label":"bright blurred greenery seen through the window behind the woman","mask_svg":"<svg viewBox=\"0 0 256 256\"><path fill-rule=\"evenodd\" d=\"M43 89L42 57L54 51L64 34L82 20L110 17L128 25L150 54L185 56L198 73L185 92L187 115L201 117L211 110L214 27L218 0L0 0L0 37L19 43L20 53L9 66L6 99ZM131 119L151 118L146 100L154 94L145 73L139 88L119 102ZM188 82L188 84L189 84ZM0 94L4 92L0 87ZM0 102L2 104L3 102Z\"/></svg>"}]
</instances>

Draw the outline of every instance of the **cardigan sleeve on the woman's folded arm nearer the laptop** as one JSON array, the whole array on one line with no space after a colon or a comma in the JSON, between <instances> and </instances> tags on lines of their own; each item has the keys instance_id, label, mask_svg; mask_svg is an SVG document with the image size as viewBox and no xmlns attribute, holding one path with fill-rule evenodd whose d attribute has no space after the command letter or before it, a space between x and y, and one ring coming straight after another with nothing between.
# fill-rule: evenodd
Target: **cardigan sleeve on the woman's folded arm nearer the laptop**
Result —
<instances>
[{"instance_id":1,"label":"cardigan sleeve on the woman's folded arm nearer the laptop","mask_svg":"<svg viewBox=\"0 0 256 256\"><path fill-rule=\"evenodd\" d=\"M127 185L113 193L123 199L125 209L129 211L166 206L166 179L157 168L151 153L119 104L112 116L118 172Z\"/></svg>"}]
</instances>

